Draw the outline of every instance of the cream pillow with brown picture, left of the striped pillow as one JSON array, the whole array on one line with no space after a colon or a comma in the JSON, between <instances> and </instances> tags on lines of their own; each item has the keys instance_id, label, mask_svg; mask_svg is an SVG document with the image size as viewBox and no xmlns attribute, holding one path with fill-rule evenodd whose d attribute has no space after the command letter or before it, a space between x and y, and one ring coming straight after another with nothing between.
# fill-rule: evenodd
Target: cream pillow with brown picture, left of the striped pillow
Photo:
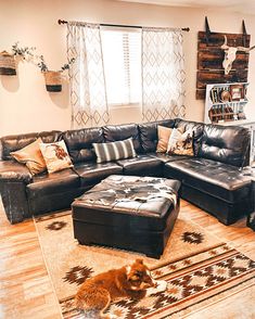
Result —
<instances>
[{"instance_id":1,"label":"cream pillow with brown picture, left of the striped pillow","mask_svg":"<svg viewBox=\"0 0 255 319\"><path fill-rule=\"evenodd\" d=\"M40 150L46 161L46 166L49 173L54 173L64 168L73 167L64 141L54 143L41 143Z\"/></svg>"}]
</instances>

